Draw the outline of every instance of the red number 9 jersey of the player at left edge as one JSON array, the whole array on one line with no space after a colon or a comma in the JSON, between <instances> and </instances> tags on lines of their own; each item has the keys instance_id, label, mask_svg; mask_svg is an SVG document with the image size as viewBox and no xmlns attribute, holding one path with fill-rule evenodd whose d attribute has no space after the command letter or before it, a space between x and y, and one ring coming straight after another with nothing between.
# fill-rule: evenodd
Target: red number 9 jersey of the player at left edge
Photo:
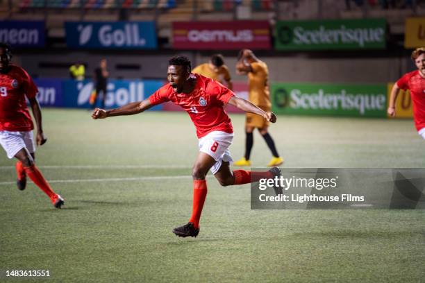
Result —
<instances>
[{"instance_id":1,"label":"red number 9 jersey of the player at left edge","mask_svg":"<svg viewBox=\"0 0 425 283\"><path fill-rule=\"evenodd\" d=\"M7 74L0 73L0 130L33 130L25 96L33 98L37 93L33 80L21 67L10 65Z\"/></svg>"}]
</instances>

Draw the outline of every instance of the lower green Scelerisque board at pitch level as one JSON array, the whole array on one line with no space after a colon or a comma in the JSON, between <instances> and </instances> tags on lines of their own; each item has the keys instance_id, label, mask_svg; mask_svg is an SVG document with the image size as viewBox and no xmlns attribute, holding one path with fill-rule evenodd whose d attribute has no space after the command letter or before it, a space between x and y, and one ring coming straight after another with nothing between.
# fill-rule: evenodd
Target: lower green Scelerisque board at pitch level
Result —
<instances>
[{"instance_id":1,"label":"lower green Scelerisque board at pitch level","mask_svg":"<svg viewBox=\"0 0 425 283\"><path fill-rule=\"evenodd\" d=\"M387 117L386 85L272 83L276 114Z\"/></svg>"}]
</instances>

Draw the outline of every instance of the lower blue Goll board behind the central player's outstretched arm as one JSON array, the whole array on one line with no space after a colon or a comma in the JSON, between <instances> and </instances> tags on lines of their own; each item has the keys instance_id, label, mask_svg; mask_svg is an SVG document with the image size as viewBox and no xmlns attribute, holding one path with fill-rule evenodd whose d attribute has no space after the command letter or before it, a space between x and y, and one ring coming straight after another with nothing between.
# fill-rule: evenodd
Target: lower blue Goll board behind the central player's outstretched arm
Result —
<instances>
[{"instance_id":1,"label":"lower blue Goll board behind the central player's outstretched arm","mask_svg":"<svg viewBox=\"0 0 425 283\"><path fill-rule=\"evenodd\" d=\"M117 108L134 101L142 101L163 85L163 80L109 80L105 107ZM94 85L91 80L63 80L63 106L90 108L89 100L93 89ZM97 106L100 106L100 99L99 96ZM162 105L151 109L162 110Z\"/></svg>"}]
</instances>

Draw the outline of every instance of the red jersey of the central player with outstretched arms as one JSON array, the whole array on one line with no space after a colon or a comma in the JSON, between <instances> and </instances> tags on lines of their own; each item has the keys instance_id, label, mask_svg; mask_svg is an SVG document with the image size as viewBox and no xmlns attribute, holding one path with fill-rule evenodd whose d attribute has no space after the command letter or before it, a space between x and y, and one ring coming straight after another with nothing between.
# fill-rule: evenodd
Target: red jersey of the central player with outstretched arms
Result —
<instances>
[{"instance_id":1,"label":"red jersey of the central player with outstretched arms","mask_svg":"<svg viewBox=\"0 0 425 283\"><path fill-rule=\"evenodd\" d=\"M190 94L183 92L178 94L174 92L171 85L167 84L154 92L149 97L149 101L153 105L166 101L180 105L188 112L197 128L198 138L213 130L232 133L231 119L227 116L223 106L235 94L215 80L198 74L191 74L191 76L197 77L197 83Z\"/></svg>"}]
</instances>

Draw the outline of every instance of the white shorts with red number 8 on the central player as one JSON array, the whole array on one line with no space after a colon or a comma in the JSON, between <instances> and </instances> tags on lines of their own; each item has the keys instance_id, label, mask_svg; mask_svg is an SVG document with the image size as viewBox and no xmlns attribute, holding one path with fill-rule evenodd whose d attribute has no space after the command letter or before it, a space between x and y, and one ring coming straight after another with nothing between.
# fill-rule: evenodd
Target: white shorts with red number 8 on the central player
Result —
<instances>
[{"instance_id":1,"label":"white shorts with red number 8 on the central player","mask_svg":"<svg viewBox=\"0 0 425 283\"><path fill-rule=\"evenodd\" d=\"M217 161L213 167L211 167L211 173L217 173L223 162L233 162L230 151L228 150L232 141L233 134L218 130L209 132L208 135L199 139L199 151L210 155L210 157L213 157L214 160Z\"/></svg>"}]
</instances>

